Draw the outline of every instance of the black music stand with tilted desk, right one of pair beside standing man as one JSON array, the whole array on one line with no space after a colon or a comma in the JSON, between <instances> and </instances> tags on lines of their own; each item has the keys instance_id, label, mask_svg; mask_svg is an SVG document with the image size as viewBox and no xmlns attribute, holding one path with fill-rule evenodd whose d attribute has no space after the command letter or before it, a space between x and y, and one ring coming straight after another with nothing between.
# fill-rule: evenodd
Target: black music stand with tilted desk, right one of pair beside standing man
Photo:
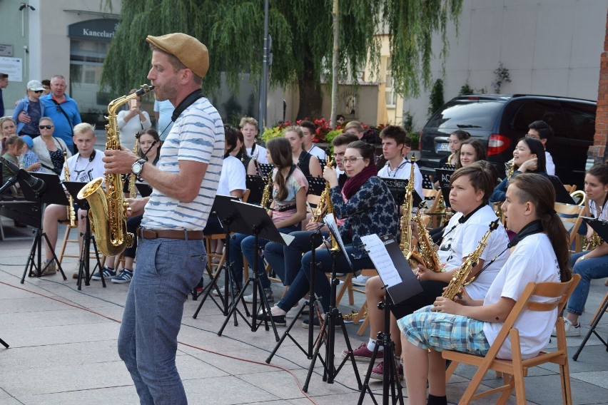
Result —
<instances>
[{"instance_id":1,"label":"black music stand with tilted desk, right one of pair beside standing man","mask_svg":"<svg viewBox=\"0 0 608 405\"><path fill-rule=\"evenodd\" d=\"M254 252L258 252L258 247L259 247L258 241L259 241L260 237L263 237L265 240L270 240L271 242L280 243L281 245L287 245L285 243L285 240L283 240L283 236L281 236L277 227L275 227L273 220L270 218L270 216L268 216L268 212L266 212L265 208L260 207L258 205L249 204L248 202L240 202L240 201L233 201L232 204L234 205L236 211L238 212L238 216L240 217L240 220L238 222L241 222L241 220L242 220L243 222L245 222L245 225L247 226L243 230L233 229L233 232L244 233L246 235L253 235L255 237L255 242L253 245ZM251 324L250 324L251 332L256 332L258 330L258 328L260 327L260 325L262 324L262 322L265 324L265 329L269 330L268 319L270 319L270 324L272 324L273 332L275 332L275 340L278 342L279 336L278 336L277 328L276 328L275 322L273 320L273 317L270 316L270 304L268 304L268 298L266 298L266 294L264 293L264 288L262 287L262 282L258 277L258 260L257 260L257 258L256 258L256 260L253 260L253 263L251 263L251 265L253 265L253 272L250 273L248 280L243 285L243 288L240 289L240 292L238 293L238 297L236 297L236 299L235 299L235 303L240 302L240 300L243 298L243 294L245 293L245 289L247 289L247 286L249 285L249 283L252 282L253 283L253 304L252 304L253 311L251 314L252 320L251 320ZM260 294L260 297L261 297L261 303L260 303L261 308L258 308L258 293ZM260 309L262 312L262 319L260 319L260 322L258 323L258 310L260 310ZM222 335L222 332L223 332L224 328L226 327L226 324L228 324L228 319L230 319L230 317L233 315L233 312L235 312L235 310L236 310L236 304L233 304L233 306L230 308L230 311L228 312L228 315L226 316L226 320L224 320L224 323L218 332L218 336ZM245 322L247 322L246 319L245 319Z\"/></svg>"}]
</instances>

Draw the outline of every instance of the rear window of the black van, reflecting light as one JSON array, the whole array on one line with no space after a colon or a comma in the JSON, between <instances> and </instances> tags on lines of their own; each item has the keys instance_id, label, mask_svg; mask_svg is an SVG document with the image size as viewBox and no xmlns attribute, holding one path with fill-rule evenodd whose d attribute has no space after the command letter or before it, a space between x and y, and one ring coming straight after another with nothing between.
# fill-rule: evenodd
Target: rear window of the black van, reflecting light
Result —
<instances>
[{"instance_id":1,"label":"rear window of the black van, reflecting light","mask_svg":"<svg viewBox=\"0 0 608 405\"><path fill-rule=\"evenodd\" d=\"M452 100L430 118L429 128L493 130L505 103L495 100Z\"/></svg>"}]
</instances>

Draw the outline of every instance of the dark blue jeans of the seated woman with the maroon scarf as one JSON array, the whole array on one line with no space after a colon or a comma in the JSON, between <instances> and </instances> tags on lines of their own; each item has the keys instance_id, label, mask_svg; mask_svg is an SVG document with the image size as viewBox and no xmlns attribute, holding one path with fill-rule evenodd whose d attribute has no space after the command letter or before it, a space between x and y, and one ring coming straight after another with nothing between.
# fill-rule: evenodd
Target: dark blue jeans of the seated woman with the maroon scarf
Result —
<instances>
[{"instance_id":1,"label":"dark blue jeans of the seated woman with the maroon scarf","mask_svg":"<svg viewBox=\"0 0 608 405\"><path fill-rule=\"evenodd\" d=\"M368 257L362 257L360 259L353 258L353 252L355 248L353 245L346 245L346 252L350 257L350 262L353 263L355 272L361 269L374 268L372 260ZM310 262L312 261L312 252L305 253L302 257L302 267L298 275L295 276L295 280L291 283L287 294L277 303L277 307L283 309L283 311L289 311L295 304L298 303L300 298L304 297L310 289ZM315 262L318 266L315 266L315 295L319 298L321 306L325 312L328 311L330 306L330 293L331 286L325 277L326 272L331 272L333 260L330 252L325 247L315 250ZM336 258L336 272L350 273L350 267L348 262L342 253Z\"/></svg>"}]
</instances>

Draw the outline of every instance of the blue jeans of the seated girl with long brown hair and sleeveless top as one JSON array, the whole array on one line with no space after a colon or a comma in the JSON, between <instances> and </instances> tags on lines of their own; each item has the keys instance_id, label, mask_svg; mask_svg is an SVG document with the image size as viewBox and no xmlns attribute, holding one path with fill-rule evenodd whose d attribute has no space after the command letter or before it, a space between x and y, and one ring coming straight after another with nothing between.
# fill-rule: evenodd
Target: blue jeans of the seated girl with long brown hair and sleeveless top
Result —
<instances>
[{"instance_id":1,"label":"blue jeans of the seated girl with long brown hair and sleeveless top","mask_svg":"<svg viewBox=\"0 0 608 405\"><path fill-rule=\"evenodd\" d=\"M281 233L290 233L299 228L299 225L291 225L289 227L279 228L278 231ZM258 247L260 247L260 249L264 249L267 243L268 240L265 240L263 237L258 238ZM233 264L236 278L235 281L239 288L243 286L243 255L245 255L245 259L247 259L251 271L253 271L253 260L258 260L258 277L260 277L262 287L268 289L270 288L270 280L268 280L268 275L264 268L264 261L262 260L262 257L258 255L258 252L253 252L254 245L255 236L253 235L235 233L230 237L230 262Z\"/></svg>"}]
</instances>

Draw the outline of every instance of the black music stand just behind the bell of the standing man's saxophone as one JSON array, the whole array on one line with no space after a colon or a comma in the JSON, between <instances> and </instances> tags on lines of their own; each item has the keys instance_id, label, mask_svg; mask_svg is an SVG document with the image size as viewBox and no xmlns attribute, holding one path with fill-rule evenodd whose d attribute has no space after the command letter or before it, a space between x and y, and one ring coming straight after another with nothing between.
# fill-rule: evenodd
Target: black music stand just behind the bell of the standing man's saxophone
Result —
<instances>
[{"instance_id":1,"label":"black music stand just behind the bell of the standing man's saxophone","mask_svg":"<svg viewBox=\"0 0 608 405\"><path fill-rule=\"evenodd\" d=\"M78 181L64 181L64 185L68 190L68 193L74 198L74 201L78 203L78 207L81 207L83 210L88 212L89 205L86 200L78 200L78 193L82 188L87 185L87 183L78 182ZM95 241L95 236L91 234L91 222L88 220L88 215L84 215L83 217L78 218L78 221L85 221L85 230L82 235L82 249L80 252L80 262L78 264L78 281L76 285L78 289L82 288L82 280L84 280L84 285L90 285L91 275L95 272L95 269L99 269L99 274L101 275L101 285L103 288L106 288L106 280L103 277L103 271L101 267L101 262L99 260L99 251L97 250L97 243ZM93 272L91 272L91 265L89 264L89 260L91 260L91 242L93 243L93 250L95 251L95 258L97 263L95 267L93 267Z\"/></svg>"}]
</instances>

